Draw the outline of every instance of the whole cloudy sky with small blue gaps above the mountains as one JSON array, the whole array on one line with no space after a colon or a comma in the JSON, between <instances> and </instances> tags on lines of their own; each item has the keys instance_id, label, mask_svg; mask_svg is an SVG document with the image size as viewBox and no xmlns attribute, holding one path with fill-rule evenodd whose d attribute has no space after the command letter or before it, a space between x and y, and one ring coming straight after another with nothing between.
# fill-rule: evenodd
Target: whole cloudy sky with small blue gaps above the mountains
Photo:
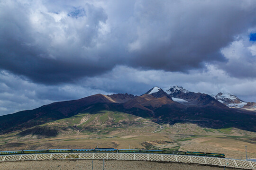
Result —
<instances>
[{"instance_id":1,"label":"whole cloudy sky with small blue gaps above the mountains","mask_svg":"<svg viewBox=\"0 0 256 170\"><path fill-rule=\"evenodd\" d=\"M0 115L172 85L256 102L256 0L0 1Z\"/></svg>"}]
</instances>

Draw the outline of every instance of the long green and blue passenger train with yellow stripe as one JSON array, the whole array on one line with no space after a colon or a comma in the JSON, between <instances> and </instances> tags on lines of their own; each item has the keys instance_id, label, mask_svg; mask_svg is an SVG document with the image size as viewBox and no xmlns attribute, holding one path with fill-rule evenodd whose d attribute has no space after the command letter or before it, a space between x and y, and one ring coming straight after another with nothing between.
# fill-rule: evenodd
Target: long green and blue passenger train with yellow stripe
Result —
<instances>
[{"instance_id":1,"label":"long green and blue passenger train with yellow stripe","mask_svg":"<svg viewBox=\"0 0 256 170\"><path fill-rule=\"evenodd\" d=\"M31 153L155 153L155 154L177 154L177 155L194 155L194 156L210 156L210 157L225 158L224 153L203 153L203 152L145 150L145 149L114 149L114 148L1 151L0 155L31 154Z\"/></svg>"}]
</instances>

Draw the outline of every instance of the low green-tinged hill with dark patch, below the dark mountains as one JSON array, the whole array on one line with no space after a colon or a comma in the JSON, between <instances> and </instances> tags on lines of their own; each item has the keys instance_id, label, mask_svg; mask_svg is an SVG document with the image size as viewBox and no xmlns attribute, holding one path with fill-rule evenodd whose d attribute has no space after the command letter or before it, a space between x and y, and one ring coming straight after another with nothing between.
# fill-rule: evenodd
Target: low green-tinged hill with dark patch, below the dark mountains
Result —
<instances>
[{"instance_id":1,"label":"low green-tinged hill with dark patch, below the dark mountains","mask_svg":"<svg viewBox=\"0 0 256 170\"><path fill-rule=\"evenodd\" d=\"M50 137L58 134L97 134L106 135L122 131L146 132L154 131L158 124L135 115L118 111L102 110L93 114L79 113L69 118L27 128L18 133L19 136Z\"/></svg>"}]
</instances>

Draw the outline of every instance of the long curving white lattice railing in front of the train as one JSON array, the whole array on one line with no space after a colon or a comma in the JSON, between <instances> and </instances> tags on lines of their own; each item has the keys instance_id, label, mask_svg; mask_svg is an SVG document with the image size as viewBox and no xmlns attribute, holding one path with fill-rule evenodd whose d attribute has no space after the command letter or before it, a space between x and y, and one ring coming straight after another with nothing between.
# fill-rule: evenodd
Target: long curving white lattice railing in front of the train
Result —
<instances>
[{"instance_id":1,"label":"long curving white lattice railing in front of the train","mask_svg":"<svg viewBox=\"0 0 256 170\"><path fill-rule=\"evenodd\" d=\"M255 161L243 161L226 158L172 155L172 154L154 154L154 153L37 153L37 154L16 154L2 155L0 162L4 161L30 161L30 160L131 160L131 161L170 161L183 163L197 163L204 165L217 165L233 168L242 168L256 170Z\"/></svg>"}]
</instances>

